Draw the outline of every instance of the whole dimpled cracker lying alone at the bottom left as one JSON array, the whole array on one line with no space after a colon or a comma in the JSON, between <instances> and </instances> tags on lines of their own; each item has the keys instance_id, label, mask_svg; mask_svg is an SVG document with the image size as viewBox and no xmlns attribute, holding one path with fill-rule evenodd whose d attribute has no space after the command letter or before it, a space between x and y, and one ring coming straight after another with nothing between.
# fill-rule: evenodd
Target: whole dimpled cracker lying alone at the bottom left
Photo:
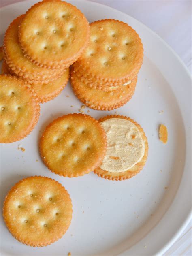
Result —
<instances>
[{"instance_id":1,"label":"whole dimpled cracker lying alone at the bottom left","mask_svg":"<svg viewBox=\"0 0 192 256\"><path fill-rule=\"evenodd\" d=\"M72 203L57 181L28 177L8 192L3 217L11 234L21 243L46 246L66 233L72 218Z\"/></svg>"}]
</instances>

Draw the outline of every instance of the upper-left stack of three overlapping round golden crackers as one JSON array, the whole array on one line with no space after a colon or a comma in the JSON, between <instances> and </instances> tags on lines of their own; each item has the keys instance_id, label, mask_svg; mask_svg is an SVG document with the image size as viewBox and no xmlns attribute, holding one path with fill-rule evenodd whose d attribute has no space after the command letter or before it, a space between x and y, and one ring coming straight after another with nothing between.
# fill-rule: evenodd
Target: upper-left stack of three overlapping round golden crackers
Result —
<instances>
[{"instance_id":1,"label":"upper-left stack of three overlapping round golden crackers","mask_svg":"<svg viewBox=\"0 0 192 256\"><path fill-rule=\"evenodd\" d=\"M66 86L69 66L88 40L89 23L79 9L60 0L39 2L7 29L2 71L23 79L47 102Z\"/></svg>"}]
</instances>

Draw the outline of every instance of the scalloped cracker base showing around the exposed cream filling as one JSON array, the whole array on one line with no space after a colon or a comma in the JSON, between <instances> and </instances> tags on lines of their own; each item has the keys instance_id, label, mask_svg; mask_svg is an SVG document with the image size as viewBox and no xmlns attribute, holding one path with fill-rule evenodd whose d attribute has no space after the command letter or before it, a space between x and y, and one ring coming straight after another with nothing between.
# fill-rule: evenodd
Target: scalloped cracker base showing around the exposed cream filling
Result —
<instances>
[{"instance_id":1,"label":"scalloped cracker base showing around the exposed cream filling","mask_svg":"<svg viewBox=\"0 0 192 256\"><path fill-rule=\"evenodd\" d=\"M119 173L112 173L112 172L109 172L109 171L104 171L100 167L97 167L94 170L94 173L97 174L101 178L105 178L105 179L109 179L109 180L121 181L121 180L125 180L125 179L130 179L134 175L139 173L143 169L143 166L145 165L145 162L146 162L147 156L148 156L147 137L145 136L145 132L143 131L141 126L139 124L137 124L137 122L135 122L134 120L130 119L129 117L125 117L125 116L122 116L122 115L108 115L108 116L100 118L98 121L99 122L103 122L103 121L105 121L106 119L109 119L109 118L123 118L123 119L127 119L130 122L133 122L137 126L137 128L139 129L139 132L141 134L141 137L143 138L143 141L145 143L144 156L143 156L143 158L141 159L140 162L135 164L132 168L128 169L127 171L119 172Z\"/></svg>"}]
</instances>

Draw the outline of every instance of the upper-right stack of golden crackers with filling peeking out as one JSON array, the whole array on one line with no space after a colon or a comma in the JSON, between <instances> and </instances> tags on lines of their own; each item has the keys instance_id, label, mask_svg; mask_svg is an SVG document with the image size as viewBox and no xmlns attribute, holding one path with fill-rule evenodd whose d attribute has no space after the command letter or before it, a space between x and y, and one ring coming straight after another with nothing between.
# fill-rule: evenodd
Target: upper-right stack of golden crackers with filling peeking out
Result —
<instances>
[{"instance_id":1,"label":"upper-right stack of golden crackers with filling peeking out","mask_svg":"<svg viewBox=\"0 0 192 256\"><path fill-rule=\"evenodd\" d=\"M90 24L89 46L73 64L76 96L97 110L124 105L134 94L143 62L143 45L128 24L105 19Z\"/></svg>"}]
</instances>

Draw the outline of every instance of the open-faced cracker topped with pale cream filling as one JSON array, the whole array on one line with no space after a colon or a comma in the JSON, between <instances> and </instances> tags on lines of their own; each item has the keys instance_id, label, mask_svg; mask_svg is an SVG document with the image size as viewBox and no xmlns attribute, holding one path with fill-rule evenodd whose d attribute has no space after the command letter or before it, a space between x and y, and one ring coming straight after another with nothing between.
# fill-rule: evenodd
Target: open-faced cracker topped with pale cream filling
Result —
<instances>
[{"instance_id":1,"label":"open-faced cracker topped with pale cream filling","mask_svg":"<svg viewBox=\"0 0 192 256\"><path fill-rule=\"evenodd\" d=\"M130 179L147 160L148 142L143 129L122 115L109 115L98 121L107 135L107 152L94 173L109 180Z\"/></svg>"}]
</instances>

